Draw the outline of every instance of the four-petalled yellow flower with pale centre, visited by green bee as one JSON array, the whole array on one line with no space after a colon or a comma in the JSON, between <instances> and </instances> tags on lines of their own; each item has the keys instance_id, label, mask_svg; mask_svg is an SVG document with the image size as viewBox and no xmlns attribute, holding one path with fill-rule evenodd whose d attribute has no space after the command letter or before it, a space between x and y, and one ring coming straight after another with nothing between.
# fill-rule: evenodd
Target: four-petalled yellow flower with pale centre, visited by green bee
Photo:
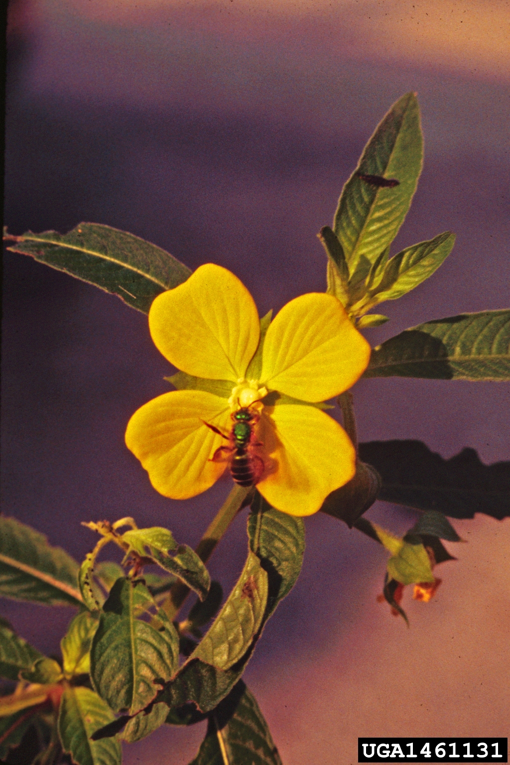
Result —
<instances>
[{"instance_id":1,"label":"four-petalled yellow flower with pale centre, visited by green bee","mask_svg":"<svg viewBox=\"0 0 510 765\"><path fill-rule=\"evenodd\" d=\"M257 489L275 508L294 516L316 513L352 478L356 454L346 432L317 407L295 401L338 396L369 363L369 343L333 295L301 295L281 309L265 336L258 379L246 379L260 340L255 302L219 265L202 265L158 295L149 328L177 369L228 381L223 389L229 391L224 397L204 390L164 393L132 416L125 442L158 492L184 500L218 480L227 462L213 456L229 441L206 423L229 435L232 412L240 407L260 414L255 431L262 445L249 452L265 464Z\"/></svg>"}]
</instances>

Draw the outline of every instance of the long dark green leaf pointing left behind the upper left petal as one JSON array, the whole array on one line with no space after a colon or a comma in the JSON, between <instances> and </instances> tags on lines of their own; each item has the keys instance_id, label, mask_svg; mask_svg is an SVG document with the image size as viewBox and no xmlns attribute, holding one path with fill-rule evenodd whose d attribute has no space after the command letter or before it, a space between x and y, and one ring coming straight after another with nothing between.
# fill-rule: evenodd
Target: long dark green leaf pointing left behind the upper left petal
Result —
<instances>
[{"instance_id":1,"label":"long dark green leaf pointing left behind the upper left petal","mask_svg":"<svg viewBox=\"0 0 510 765\"><path fill-rule=\"evenodd\" d=\"M161 247L138 236L102 226L79 223L67 234L44 231L7 236L11 252L30 255L54 269L96 285L147 314L154 298L186 282L191 272Z\"/></svg>"}]
</instances>

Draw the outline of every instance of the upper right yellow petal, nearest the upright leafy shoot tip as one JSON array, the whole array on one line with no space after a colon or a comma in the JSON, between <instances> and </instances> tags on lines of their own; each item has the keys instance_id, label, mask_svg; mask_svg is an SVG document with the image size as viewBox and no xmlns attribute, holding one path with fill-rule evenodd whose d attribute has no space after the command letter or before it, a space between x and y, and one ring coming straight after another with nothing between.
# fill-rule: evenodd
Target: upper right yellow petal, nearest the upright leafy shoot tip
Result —
<instances>
[{"instance_id":1,"label":"upper right yellow petal, nearest the upright leafy shoot tip","mask_svg":"<svg viewBox=\"0 0 510 765\"><path fill-rule=\"evenodd\" d=\"M326 401L350 388L369 358L369 343L340 301L312 292L287 303L269 325L260 379L294 399Z\"/></svg>"}]
</instances>

